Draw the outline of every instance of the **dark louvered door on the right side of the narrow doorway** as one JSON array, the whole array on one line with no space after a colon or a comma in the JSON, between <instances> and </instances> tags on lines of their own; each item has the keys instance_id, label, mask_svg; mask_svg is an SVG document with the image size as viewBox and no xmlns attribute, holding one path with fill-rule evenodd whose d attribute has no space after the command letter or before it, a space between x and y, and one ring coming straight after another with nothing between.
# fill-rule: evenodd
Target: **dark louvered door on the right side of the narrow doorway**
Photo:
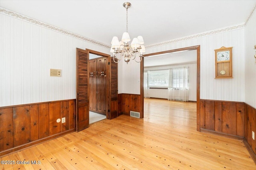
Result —
<instances>
[{"instance_id":1,"label":"dark louvered door on the right side of the narrow doorway","mask_svg":"<svg viewBox=\"0 0 256 170\"><path fill-rule=\"evenodd\" d=\"M109 111L107 119L118 117L118 86L117 86L117 63L112 57L108 58L109 66Z\"/></svg>"}]
</instances>

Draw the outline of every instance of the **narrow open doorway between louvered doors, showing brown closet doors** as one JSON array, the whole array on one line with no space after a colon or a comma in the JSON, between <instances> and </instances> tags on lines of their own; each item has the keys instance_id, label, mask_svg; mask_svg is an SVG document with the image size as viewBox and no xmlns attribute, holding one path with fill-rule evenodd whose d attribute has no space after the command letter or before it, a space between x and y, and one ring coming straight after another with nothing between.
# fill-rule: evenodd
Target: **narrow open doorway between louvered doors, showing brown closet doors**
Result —
<instances>
[{"instance_id":1,"label":"narrow open doorway between louvered doors, showing brown closet doors","mask_svg":"<svg viewBox=\"0 0 256 170\"><path fill-rule=\"evenodd\" d=\"M108 111L108 58L89 53L89 124L106 119Z\"/></svg>"}]
</instances>

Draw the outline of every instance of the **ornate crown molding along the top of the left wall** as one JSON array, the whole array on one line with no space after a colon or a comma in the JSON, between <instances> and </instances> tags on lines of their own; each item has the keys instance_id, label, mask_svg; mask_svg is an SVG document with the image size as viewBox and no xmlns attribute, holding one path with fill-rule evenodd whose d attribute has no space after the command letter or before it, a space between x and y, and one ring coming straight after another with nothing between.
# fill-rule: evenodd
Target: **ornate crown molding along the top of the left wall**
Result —
<instances>
[{"instance_id":1,"label":"ornate crown molding along the top of the left wall","mask_svg":"<svg viewBox=\"0 0 256 170\"><path fill-rule=\"evenodd\" d=\"M2 7L0 7L0 14L4 14L4 15L6 15L6 16L10 16L10 17L13 17L13 18L22 20L22 21L26 21L26 22L28 22L28 23L32 23L32 24L34 24L34 25L38 25L38 26L40 26L40 27L44 27L44 28L50 29L50 30L52 30L52 31L56 31L56 32L58 32L58 33L62 33L62 34L65 34L65 35L68 35L68 36L71 36L71 37L74 37L74 38L77 38L77 39L81 39L81 40L83 40L83 41L87 41L88 43L92 43L92 44L99 45L99 46L102 46L102 47L105 47L105 48L110 49L110 46L109 46L109 45L100 43L100 42L98 42L98 41L94 41L94 40L92 40L92 39L83 37L83 36L81 36L81 35L72 33L72 32L70 32L70 31L66 31L66 30L64 30L64 29L55 27L55 26L53 26L53 25L44 23L44 22L42 22L42 21L35 20L35 19L30 18L30 17L28 17L28 16L24 16L24 15L22 15L22 14L13 12L13 11L11 11L11 10L7 10L7 9L5 9L5 8L2 8Z\"/></svg>"}]
</instances>

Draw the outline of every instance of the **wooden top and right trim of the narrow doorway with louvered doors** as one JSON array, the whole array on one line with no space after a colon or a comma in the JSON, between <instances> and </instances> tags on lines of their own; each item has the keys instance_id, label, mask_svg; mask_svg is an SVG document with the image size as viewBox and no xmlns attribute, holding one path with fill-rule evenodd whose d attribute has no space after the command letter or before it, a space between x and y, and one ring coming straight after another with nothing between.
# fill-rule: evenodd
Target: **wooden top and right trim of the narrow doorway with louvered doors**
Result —
<instances>
[{"instance_id":1,"label":"wooden top and right trim of the narrow doorway with louvered doors","mask_svg":"<svg viewBox=\"0 0 256 170\"><path fill-rule=\"evenodd\" d=\"M95 55L100 55L102 57L106 57L108 59L107 62L110 62L109 61L110 60L110 55L108 55L108 54L101 53L101 52L94 51L94 50L90 50L90 49L86 49L86 51L89 51L88 59L90 59L90 53L91 53L91 54L95 54ZM109 67L109 65L108 65L108 67ZM89 72L88 72L88 74L89 74ZM109 68L107 68L107 75L108 75L107 78L109 79L110 78ZM109 85L109 81L108 80L106 81L106 83L107 83L107 85L106 85L106 87L107 87L107 90L106 90L106 102L107 102L106 119L110 119L109 115L108 115L109 114L108 110L109 110L109 107L110 107L110 101L109 101L109 97L108 97L109 96L110 85Z\"/></svg>"}]
</instances>

